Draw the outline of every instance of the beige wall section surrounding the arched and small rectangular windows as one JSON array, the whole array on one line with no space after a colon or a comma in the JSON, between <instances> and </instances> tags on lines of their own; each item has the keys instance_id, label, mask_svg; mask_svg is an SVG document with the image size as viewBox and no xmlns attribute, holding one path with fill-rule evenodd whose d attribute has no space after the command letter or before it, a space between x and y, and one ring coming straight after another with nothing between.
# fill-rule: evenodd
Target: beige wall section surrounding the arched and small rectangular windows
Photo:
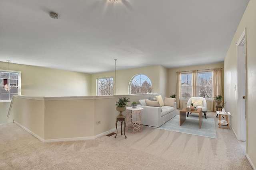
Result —
<instances>
[{"instance_id":1,"label":"beige wall section surrounding the arched and small rectangular windows","mask_svg":"<svg viewBox=\"0 0 256 170\"><path fill-rule=\"evenodd\" d=\"M160 93L162 97L165 96L166 90L167 90L166 88L167 69L160 65L146 66L146 67L140 67L140 68L127 69L127 70L117 70L116 71L116 95L128 94L130 80L137 74L145 74L150 78L152 82L152 93ZM96 91L97 78L105 78L105 77L114 77L114 81L115 81L115 72L103 72L103 73L92 74L91 96L95 96L97 94L97 91ZM114 86L115 86L115 82L114 82Z\"/></svg>"}]
</instances>

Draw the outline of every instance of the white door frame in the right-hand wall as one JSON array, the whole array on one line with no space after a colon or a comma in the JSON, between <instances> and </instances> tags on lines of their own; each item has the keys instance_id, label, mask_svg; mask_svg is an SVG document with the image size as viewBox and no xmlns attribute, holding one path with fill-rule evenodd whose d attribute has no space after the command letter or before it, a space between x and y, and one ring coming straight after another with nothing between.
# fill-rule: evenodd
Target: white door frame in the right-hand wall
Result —
<instances>
[{"instance_id":1,"label":"white door frame in the right-hand wall","mask_svg":"<svg viewBox=\"0 0 256 170\"><path fill-rule=\"evenodd\" d=\"M246 29L236 43L237 51L237 111L239 141L246 141Z\"/></svg>"}]
</instances>

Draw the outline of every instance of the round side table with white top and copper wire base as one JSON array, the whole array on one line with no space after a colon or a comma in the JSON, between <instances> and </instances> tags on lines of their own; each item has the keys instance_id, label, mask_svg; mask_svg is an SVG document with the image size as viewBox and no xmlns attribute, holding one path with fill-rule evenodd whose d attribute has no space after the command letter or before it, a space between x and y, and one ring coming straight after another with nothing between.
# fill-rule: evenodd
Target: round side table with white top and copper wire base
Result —
<instances>
[{"instance_id":1,"label":"round side table with white top and copper wire base","mask_svg":"<svg viewBox=\"0 0 256 170\"><path fill-rule=\"evenodd\" d=\"M126 132L140 133L142 132L141 111L143 107L126 107Z\"/></svg>"}]
</instances>

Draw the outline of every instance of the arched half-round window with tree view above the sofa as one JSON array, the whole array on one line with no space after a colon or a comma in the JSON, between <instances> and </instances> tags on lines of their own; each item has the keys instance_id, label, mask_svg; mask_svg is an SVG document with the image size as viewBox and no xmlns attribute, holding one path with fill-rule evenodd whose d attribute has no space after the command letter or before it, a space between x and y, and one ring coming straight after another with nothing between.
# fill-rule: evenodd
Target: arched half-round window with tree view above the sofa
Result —
<instances>
[{"instance_id":1,"label":"arched half-round window with tree view above the sofa","mask_svg":"<svg viewBox=\"0 0 256 170\"><path fill-rule=\"evenodd\" d=\"M152 93L152 83L148 76L144 74L135 75L130 81L129 94Z\"/></svg>"}]
</instances>

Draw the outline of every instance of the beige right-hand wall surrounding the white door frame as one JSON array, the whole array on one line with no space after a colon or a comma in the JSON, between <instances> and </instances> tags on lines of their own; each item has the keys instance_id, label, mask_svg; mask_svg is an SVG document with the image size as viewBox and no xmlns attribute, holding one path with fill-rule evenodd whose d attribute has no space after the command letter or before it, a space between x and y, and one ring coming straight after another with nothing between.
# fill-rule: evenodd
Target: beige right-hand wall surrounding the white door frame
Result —
<instances>
[{"instance_id":1,"label":"beige right-hand wall surrounding the white door frame","mask_svg":"<svg viewBox=\"0 0 256 170\"><path fill-rule=\"evenodd\" d=\"M237 92L234 91L234 85L237 83L236 65L236 43L246 28L246 49L247 49L247 74L246 74L246 102L247 102L247 158L256 168L256 114L254 105L256 103L256 0L250 0L242 20L236 30L234 38L224 61L224 97L228 100L227 107L232 113L232 128L238 131L238 112L236 109Z\"/></svg>"}]
</instances>

